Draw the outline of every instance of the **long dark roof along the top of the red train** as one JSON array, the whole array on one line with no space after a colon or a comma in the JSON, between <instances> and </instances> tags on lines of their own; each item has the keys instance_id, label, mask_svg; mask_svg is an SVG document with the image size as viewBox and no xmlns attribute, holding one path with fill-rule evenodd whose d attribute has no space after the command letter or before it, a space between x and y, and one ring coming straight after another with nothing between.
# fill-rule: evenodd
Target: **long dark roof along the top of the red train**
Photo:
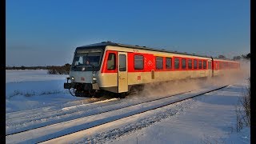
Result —
<instances>
[{"instance_id":1,"label":"long dark roof along the top of the red train","mask_svg":"<svg viewBox=\"0 0 256 144\"><path fill-rule=\"evenodd\" d=\"M140 49L140 50L153 50L153 51L159 51L159 52L166 52L166 53L174 53L174 54L185 54L185 55L192 55L192 56L198 56L198 57L203 57L203 58L214 58L211 56L206 56L206 55L200 55L200 54L189 54L189 53L182 53L178 51L172 51L172 50L165 50L165 49L155 49L155 48L150 48L146 46L132 46L132 45L126 45L126 44L121 44L121 43L115 43L115 42L100 42L100 43L94 43L86 46L78 46L77 49L83 49L83 48L89 48L89 47L94 47L94 46L119 46L119 47L126 47L126 48L134 48L134 49ZM233 61L227 58L214 58L214 59L219 59L219 60L228 60L228 61Z\"/></svg>"}]
</instances>

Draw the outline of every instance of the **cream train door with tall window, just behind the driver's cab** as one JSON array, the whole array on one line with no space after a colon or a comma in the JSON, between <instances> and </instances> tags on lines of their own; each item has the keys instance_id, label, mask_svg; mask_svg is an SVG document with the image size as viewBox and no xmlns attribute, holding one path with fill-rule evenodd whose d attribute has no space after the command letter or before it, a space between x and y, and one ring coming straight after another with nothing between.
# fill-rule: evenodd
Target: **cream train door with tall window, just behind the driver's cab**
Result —
<instances>
[{"instance_id":1,"label":"cream train door with tall window, just behind the driver's cab","mask_svg":"<svg viewBox=\"0 0 256 144\"><path fill-rule=\"evenodd\" d=\"M128 91L127 53L118 52L118 93Z\"/></svg>"}]
</instances>

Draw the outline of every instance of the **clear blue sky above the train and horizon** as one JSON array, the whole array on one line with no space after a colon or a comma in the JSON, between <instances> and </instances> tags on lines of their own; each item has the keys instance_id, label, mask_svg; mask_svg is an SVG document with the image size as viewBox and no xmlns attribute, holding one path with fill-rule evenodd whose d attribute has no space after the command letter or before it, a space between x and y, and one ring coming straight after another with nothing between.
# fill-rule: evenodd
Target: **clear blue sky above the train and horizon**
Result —
<instances>
[{"instance_id":1,"label":"clear blue sky above the train and horizon","mask_svg":"<svg viewBox=\"0 0 256 144\"><path fill-rule=\"evenodd\" d=\"M250 1L6 0L7 66L62 66L102 41L233 58L250 52Z\"/></svg>"}]
</instances>

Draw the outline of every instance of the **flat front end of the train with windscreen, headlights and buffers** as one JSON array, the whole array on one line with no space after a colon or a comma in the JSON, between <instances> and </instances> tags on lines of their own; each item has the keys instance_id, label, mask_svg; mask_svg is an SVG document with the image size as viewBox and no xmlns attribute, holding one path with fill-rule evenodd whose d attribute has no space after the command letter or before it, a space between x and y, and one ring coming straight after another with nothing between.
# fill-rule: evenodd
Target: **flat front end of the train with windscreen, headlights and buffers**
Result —
<instances>
[{"instance_id":1,"label":"flat front end of the train with windscreen, headlights and buffers","mask_svg":"<svg viewBox=\"0 0 256 144\"><path fill-rule=\"evenodd\" d=\"M64 89L77 97L94 97L99 91L98 74L104 49L100 47L78 47L66 78Z\"/></svg>"}]
</instances>

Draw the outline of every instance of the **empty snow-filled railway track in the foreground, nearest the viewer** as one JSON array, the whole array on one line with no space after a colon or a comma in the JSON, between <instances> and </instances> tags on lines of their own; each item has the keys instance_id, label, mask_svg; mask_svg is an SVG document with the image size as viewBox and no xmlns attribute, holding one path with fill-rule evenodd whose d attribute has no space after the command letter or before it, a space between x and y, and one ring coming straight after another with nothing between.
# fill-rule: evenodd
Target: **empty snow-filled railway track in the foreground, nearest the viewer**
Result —
<instances>
[{"instance_id":1,"label":"empty snow-filled railway track in the foreground, nearest the viewer","mask_svg":"<svg viewBox=\"0 0 256 144\"><path fill-rule=\"evenodd\" d=\"M104 111L98 114L92 114L82 118L76 118L66 122L59 122L48 126L42 126L31 130L24 130L15 134L6 135L6 143L38 143L46 142L55 138L65 137L82 130L86 130L95 126L101 126L106 123L118 121L122 118L128 118L136 114L142 114L146 111L155 110L164 106L181 102L189 98L194 98L202 94L210 93L214 90L220 90L226 86L198 90L196 92L186 92L182 94L158 98L148 102L140 102L132 106L119 107L118 109ZM29 136L29 137L28 137Z\"/></svg>"}]
</instances>

